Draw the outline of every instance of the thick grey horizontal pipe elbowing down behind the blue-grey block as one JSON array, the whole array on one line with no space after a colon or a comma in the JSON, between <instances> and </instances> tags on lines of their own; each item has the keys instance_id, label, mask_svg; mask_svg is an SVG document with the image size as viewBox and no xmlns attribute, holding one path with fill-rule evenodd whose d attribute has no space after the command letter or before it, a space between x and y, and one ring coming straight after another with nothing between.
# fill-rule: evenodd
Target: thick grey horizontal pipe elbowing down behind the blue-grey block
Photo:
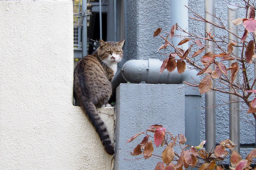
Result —
<instances>
[{"instance_id":1,"label":"thick grey horizontal pipe elbowing down behind the blue-grey block","mask_svg":"<svg viewBox=\"0 0 256 170\"><path fill-rule=\"evenodd\" d=\"M186 70L179 74L177 70L171 74L167 70L160 74L163 64L159 59L129 60L125 62L121 70L112 80L113 88L116 89L120 83L149 84L183 84L186 82L200 82L195 70ZM185 136L186 144L198 145L200 143L200 121L201 121L201 95L198 88L185 88Z\"/></svg>"}]
</instances>

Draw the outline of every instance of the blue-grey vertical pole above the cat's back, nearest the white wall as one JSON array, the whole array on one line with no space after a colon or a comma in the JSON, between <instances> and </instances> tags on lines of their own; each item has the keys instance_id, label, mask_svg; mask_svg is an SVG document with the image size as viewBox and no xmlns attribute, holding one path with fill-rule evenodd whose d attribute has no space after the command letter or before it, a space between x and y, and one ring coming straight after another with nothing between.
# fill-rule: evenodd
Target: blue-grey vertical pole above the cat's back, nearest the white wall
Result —
<instances>
[{"instance_id":1,"label":"blue-grey vertical pole above the cat's back, nearest the white wall","mask_svg":"<svg viewBox=\"0 0 256 170\"><path fill-rule=\"evenodd\" d=\"M87 0L82 0L82 57L87 56Z\"/></svg>"}]
</instances>

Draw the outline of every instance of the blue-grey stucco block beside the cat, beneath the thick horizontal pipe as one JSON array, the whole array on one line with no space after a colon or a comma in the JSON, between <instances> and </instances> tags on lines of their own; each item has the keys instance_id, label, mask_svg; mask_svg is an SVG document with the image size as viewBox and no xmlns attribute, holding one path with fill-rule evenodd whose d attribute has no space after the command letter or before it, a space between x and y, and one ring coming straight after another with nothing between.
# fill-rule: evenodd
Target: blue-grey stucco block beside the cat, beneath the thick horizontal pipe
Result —
<instances>
[{"instance_id":1,"label":"blue-grey stucco block beside the cat, beneath the thick horizontal pipe","mask_svg":"<svg viewBox=\"0 0 256 170\"><path fill-rule=\"evenodd\" d=\"M145 135L138 136L128 144L126 141L155 124L163 125L173 135L185 134L184 98L183 85L119 85L116 91L115 170L154 169L158 159L125 160L142 157L131 156L128 151L133 151ZM173 101L175 105L172 104ZM162 152L162 147L154 147L157 155Z\"/></svg>"}]
</instances>

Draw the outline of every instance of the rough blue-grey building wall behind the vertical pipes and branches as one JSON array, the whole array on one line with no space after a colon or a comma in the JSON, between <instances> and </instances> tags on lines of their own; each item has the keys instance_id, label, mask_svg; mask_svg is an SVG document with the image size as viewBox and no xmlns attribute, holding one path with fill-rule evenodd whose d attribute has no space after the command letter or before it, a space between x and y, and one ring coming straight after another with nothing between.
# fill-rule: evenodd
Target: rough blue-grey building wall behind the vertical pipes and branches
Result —
<instances>
[{"instance_id":1,"label":"rough blue-grey building wall behind the vertical pipes and branches","mask_svg":"<svg viewBox=\"0 0 256 170\"><path fill-rule=\"evenodd\" d=\"M243 5L243 1L236 3ZM192 10L204 16L204 0L188 0L188 5ZM128 0L127 12L127 58L128 59L165 59L166 56L160 53L168 53L171 49L157 53L157 49L163 45L164 41L160 37L153 37L156 28L170 31L171 28L171 6L169 0L158 0L152 3L151 0ZM223 0L215 0L215 11L217 16L223 18L227 26L227 4ZM180 11L182 12L182 11ZM189 16L193 17L189 11ZM244 11L239 9L239 17L245 17ZM189 31L204 35L204 23L189 19ZM227 36L226 32L215 29L215 34ZM239 32L242 34L242 31ZM192 49L195 51L195 49ZM198 59L201 56L198 57ZM205 99L202 96L201 106L204 107ZM222 105L228 100L228 95L216 93L216 105ZM205 111L201 109L201 141L205 139ZM241 118L247 121L253 120L253 116L241 111ZM241 153L248 150L255 143L255 130L252 125L241 120ZM229 138L229 108L228 105L216 108L216 142Z\"/></svg>"}]
</instances>

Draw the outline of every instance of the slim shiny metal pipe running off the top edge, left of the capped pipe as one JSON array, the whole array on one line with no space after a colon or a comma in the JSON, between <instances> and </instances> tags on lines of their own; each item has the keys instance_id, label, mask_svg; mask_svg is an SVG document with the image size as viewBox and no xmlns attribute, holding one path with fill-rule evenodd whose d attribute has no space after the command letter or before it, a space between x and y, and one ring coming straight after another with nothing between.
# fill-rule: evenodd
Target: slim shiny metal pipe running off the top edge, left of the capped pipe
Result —
<instances>
[{"instance_id":1,"label":"slim shiny metal pipe running off the top edge, left of the capped pipe","mask_svg":"<svg viewBox=\"0 0 256 170\"><path fill-rule=\"evenodd\" d=\"M215 18L212 15L207 14L215 14L215 2L214 0L204 0L204 11L205 11L205 19L211 22L215 22ZM212 35L215 34L214 26L209 23L205 23L205 30L210 32ZM205 40L205 44L214 45L214 42ZM214 52L214 49L207 48L206 52ZM215 68L210 66L212 70ZM212 86L215 86L215 82L212 81ZM208 91L205 94L205 137L206 137L206 150L212 150L215 148L216 137L215 137L215 91ZM213 150L212 150L213 151Z\"/></svg>"}]
</instances>

